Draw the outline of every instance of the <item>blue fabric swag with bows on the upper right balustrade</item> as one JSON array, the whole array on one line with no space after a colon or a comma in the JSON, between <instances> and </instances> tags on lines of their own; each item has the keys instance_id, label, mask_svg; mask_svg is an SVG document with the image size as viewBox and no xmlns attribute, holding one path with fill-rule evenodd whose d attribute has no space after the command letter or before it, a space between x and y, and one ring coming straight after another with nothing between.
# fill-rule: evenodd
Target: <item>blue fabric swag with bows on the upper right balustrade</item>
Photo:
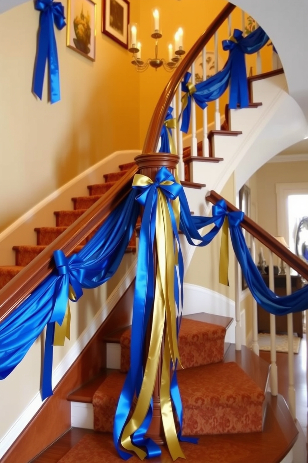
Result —
<instances>
[{"instance_id":1,"label":"blue fabric swag with bows on the upper right balustrade","mask_svg":"<svg viewBox=\"0 0 308 463\"><path fill-rule=\"evenodd\" d=\"M229 108L235 109L248 106L248 85L245 65L245 54L259 51L268 41L268 36L261 27L247 37L242 36L242 31L235 29L232 38L223 40L223 50L229 50L229 58L224 68L204 82L199 82L193 89L189 87L191 74L187 73L181 84L184 94L187 94L187 106L182 108L181 131L187 133L190 123L191 99L205 109L207 103L217 100L228 88ZM186 104L186 103L185 103Z\"/></svg>"}]
</instances>

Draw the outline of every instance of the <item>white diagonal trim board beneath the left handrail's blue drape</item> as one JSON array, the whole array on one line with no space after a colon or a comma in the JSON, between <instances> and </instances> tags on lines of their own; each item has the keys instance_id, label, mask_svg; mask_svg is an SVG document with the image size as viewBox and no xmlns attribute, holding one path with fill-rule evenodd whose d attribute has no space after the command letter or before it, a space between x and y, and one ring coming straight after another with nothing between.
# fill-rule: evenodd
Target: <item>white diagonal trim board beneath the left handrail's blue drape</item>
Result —
<instances>
[{"instance_id":1,"label":"white diagonal trim board beneath the left handrail's blue drape","mask_svg":"<svg viewBox=\"0 0 308 463\"><path fill-rule=\"evenodd\" d=\"M132 263L131 267L127 270L127 273L123 276L116 288L110 294L109 298L103 304L103 307L101 307L101 309L92 319L91 324L85 329L85 331L81 334L81 336L72 346L72 348L67 352L63 360L54 369L52 375L53 389L61 381L61 379L66 374L67 370L75 362L75 360L79 357L82 350L85 348L85 346L89 343L94 334L100 328L103 321L108 317L113 307L115 307L117 301L121 298L121 296L127 290L128 286L132 283L136 275L136 262L137 258L134 259L134 262ZM9 429L9 431L0 440L0 459L15 442L20 433L24 430L26 425L28 425L28 423L31 421L31 419L34 417L34 415L38 412L38 410L41 407L42 397L41 392L38 392L33 398L33 400L31 400L28 407L25 408L23 413L21 413L21 415L18 417L18 419Z\"/></svg>"}]
</instances>

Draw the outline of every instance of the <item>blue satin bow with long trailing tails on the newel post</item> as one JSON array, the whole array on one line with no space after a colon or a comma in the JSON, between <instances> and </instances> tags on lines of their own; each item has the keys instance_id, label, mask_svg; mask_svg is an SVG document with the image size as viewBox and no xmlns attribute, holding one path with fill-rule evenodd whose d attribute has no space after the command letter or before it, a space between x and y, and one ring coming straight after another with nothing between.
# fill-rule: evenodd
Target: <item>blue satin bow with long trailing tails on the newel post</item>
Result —
<instances>
[{"instance_id":1,"label":"blue satin bow with long trailing tails on the newel post","mask_svg":"<svg viewBox=\"0 0 308 463\"><path fill-rule=\"evenodd\" d=\"M173 182L171 185L164 185L163 181ZM139 259L136 271L135 294L133 303L133 323L131 336L131 362L130 369L124 383L114 422L114 444L121 456L127 460L131 454L121 449L121 434L130 412L133 397L136 393L139 396L142 379L143 379L143 351L145 342L146 328L149 322L151 308L154 302L155 288L155 268L153 258L153 246L156 233L156 211L157 211L157 189L160 188L163 194L169 200L175 200L183 190L182 186L175 182L174 176L166 167L157 172L155 181L145 187L133 186L140 191L136 200L144 207L144 214L141 222L139 235ZM179 243L178 232L174 213L169 205L169 213L172 221L173 233L175 240ZM183 259L179 251L180 277L183 278ZM182 281L181 281L182 286ZM179 298L177 297L177 300ZM143 425L134 433L133 441L138 445L145 447L148 457L154 457L161 454L160 448L151 439L145 438L145 433L151 422L151 407Z\"/></svg>"}]
</instances>

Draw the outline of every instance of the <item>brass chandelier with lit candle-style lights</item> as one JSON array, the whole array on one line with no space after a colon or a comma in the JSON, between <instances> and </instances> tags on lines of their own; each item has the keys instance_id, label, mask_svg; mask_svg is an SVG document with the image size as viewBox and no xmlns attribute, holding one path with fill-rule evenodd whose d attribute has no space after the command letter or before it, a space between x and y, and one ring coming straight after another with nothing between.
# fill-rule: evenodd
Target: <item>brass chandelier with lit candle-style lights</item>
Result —
<instances>
[{"instance_id":1,"label":"brass chandelier with lit candle-style lights","mask_svg":"<svg viewBox=\"0 0 308 463\"><path fill-rule=\"evenodd\" d=\"M163 68L166 71L172 72L180 63L181 56L185 55L183 50L183 29L179 29L175 32L174 36L174 52L173 44L168 45L168 61L164 58L158 57L158 40L163 37L162 32L159 29L159 11L157 9L152 11L153 13L153 33L151 38L155 40L155 56L154 58L149 58L145 62L141 59L141 44L138 41L138 25L132 23L129 25L129 49L128 51L133 53L132 64L135 66L136 70L139 72L145 71L149 66L157 70L158 68Z\"/></svg>"}]
</instances>

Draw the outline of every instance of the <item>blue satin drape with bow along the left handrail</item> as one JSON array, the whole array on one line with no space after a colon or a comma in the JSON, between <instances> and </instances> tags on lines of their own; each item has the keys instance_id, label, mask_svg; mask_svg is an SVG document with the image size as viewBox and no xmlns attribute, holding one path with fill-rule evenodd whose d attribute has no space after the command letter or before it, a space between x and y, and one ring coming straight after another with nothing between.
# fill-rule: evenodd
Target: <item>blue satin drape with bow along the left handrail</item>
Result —
<instances>
[{"instance_id":1,"label":"blue satin drape with bow along the left handrail","mask_svg":"<svg viewBox=\"0 0 308 463\"><path fill-rule=\"evenodd\" d=\"M47 325L42 397L52 394L54 323L62 323L69 286L79 299L82 288L97 288L114 275L139 215L135 196L132 190L78 254L65 257L55 251L54 272L0 324L0 379L12 372Z\"/></svg>"}]
</instances>

